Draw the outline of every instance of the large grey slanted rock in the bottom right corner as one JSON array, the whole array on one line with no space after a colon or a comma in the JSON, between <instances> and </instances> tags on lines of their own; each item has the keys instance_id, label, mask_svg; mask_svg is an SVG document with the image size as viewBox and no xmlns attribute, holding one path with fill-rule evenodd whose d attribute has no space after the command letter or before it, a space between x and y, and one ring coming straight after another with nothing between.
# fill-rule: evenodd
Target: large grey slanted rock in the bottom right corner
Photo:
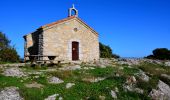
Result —
<instances>
[{"instance_id":1,"label":"large grey slanted rock in the bottom right corner","mask_svg":"<svg viewBox=\"0 0 170 100\"><path fill-rule=\"evenodd\" d=\"M149 96L153 100L170 100L170 87L162 81L159 81L157 89L152 89Z\"/></svg>"}]
</instances>

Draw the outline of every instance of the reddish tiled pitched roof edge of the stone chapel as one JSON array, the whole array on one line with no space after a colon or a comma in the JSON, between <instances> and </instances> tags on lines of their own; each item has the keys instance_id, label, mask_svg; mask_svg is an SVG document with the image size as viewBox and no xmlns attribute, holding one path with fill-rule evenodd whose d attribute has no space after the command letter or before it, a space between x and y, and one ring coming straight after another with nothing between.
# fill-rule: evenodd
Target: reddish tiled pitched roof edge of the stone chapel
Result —
<instances>
[{"instance_id":1,"label":"reddish tiled pitched roof edge of the stone chapel","mask_svg":"<svg viewBox=\"0 0 170 100\"><path fill-rule=\"evenodd\" d=\"M89 25L87 25L84 21L82 21L80 18L76 17L76 16L70 16L70 17L67 17L65 19L62 19L62 20L59 20L59 21L56 21L56 22L53 22L53 23L50 23L50 24L46 24L46 25L43 25L41 26L40 28L38 28L37 30L39 29L44 29L44 28L47 28L47 27L51 27L53 25L57 25L57 24L60 24L62 22L65 22L65 21L68 21L68 20L71 20L71 19L78 19L80 22L82 22L84 25L86 25L92 32L94 32L97 36L98 36L98 33L93 29L91 28ZM34 32L33 32L34 33ZM31 34L31 33L30 33ZM27 34L28 35L28 34ZM26 35L25 35L26 36Z\"/></svg>"}]
</instances>

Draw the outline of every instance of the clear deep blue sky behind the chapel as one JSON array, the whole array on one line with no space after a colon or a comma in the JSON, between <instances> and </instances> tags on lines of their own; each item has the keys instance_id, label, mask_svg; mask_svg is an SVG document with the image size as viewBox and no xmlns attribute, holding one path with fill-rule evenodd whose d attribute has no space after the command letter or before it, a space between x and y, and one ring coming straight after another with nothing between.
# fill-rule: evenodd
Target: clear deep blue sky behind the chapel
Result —
<instances>
[{"instance_id":1,"label":"clear deep blue sky behind the chapel","mask_svg":"<svg viewBox=\"0 0 170 100\"><path fill-rule=\"evenodd\" d=\"M122 57L170 49L170 0L1 0L0 31L23 57L23 35L66 18L72 3L100 42Z\"/></svg>"}]
</instances>

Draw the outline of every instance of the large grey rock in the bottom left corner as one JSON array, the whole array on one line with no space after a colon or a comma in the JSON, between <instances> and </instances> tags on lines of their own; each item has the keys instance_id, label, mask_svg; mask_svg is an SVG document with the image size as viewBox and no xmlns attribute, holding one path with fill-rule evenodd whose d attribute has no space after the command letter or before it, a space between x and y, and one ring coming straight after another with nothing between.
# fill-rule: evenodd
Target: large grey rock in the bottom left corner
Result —
<instances>
[{"instance_id":1,"label":"large grey rock in the bottom left corner","mask_svg":"<svg viewBox=\"0 0 170 100\"><path fill-rule=\"evenodd\" d=\"M0 92L0 100L24 100L17 87L6 87Z\"/></svg>"}]
</instances>

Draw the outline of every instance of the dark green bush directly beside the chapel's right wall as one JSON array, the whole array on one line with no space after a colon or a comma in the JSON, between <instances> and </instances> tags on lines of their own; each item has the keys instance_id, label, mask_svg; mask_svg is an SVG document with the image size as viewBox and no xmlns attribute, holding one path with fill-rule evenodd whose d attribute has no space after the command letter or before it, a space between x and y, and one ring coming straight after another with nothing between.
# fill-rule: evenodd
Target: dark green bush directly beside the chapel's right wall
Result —
<instances>
[{"instance_id":1,"label":"dark green bush directly beside the chapel's right wall","mask_svg":"<svg viewBox=\"0 0 170 100\"><path fill-rule=\"evenodd\" d=\"M102 43L99 43L100 57L101 58L119 58L118 55L112 53L112 49Z\"/></svg>"}]
</instances>

